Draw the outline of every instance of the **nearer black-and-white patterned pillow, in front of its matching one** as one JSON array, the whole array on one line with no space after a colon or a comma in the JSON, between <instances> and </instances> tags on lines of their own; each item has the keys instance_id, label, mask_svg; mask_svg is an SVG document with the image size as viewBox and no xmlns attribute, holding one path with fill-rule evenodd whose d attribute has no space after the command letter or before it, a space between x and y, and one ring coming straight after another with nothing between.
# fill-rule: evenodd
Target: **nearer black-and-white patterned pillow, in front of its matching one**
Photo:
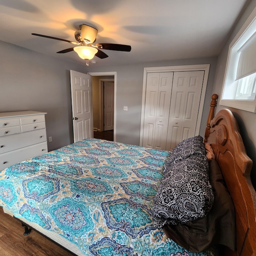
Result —
<instances>
[{"instance_id":1,"label":"nearer black-and-white patterned pillow, in front of its matching one","mask_svg":"<svg viewBox=\"0 0 256 256\"><path fill-rule=\"evenodd\" d=\"M214 195L208 173L205 150L204 154L170 163L153 205L153 216L159 228L196 220L209 212Z\"/></svg>"}]
</instances>

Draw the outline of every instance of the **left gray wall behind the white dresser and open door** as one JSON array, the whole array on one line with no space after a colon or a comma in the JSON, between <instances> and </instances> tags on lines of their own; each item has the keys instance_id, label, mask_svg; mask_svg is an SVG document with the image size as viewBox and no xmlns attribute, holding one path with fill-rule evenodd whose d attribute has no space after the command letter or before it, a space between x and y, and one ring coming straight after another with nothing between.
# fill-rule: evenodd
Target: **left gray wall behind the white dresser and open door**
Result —
<instances>
[{"instance_id":1,"label":"left gray wall behind the white dresser and open door","mask_svg":"<svg viewBox=\"0 0 256 256\"><path fill-rule=\"evenodd\" d=\"M69 70L84 72L84 66L2 41L0 54L0 112L47 112L48 150L73 142Z\"/></svg>"}]
</instances>

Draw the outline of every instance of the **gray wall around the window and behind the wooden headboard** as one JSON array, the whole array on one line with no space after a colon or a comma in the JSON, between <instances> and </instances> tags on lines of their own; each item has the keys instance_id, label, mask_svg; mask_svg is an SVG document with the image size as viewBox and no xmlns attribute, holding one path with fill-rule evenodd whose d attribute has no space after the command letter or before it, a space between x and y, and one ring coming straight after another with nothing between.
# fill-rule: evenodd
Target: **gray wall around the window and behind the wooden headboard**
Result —
<instances>
[{"instance_id":1,"label":"gray wall around the window and behind the wooden headboard","mask_svg":"<svg viewBox=\"0 0 256 256\"><path fill-rule=\"evenodd\" d=\"M219 96L221 95L223 80L224 80L224 74L225 74L225 68L226 68L226 62L228 57L228 49L229 45L244 24L246 22L248 16L251 14L251 12L256 7L256 0L252 0L246 10L244 11L241 18L238 20L238 23L234 27L234 30L230 34L224 48L222 49L220 55L218 56L218 62L216 66L216 74L214 78L214 84L212 88L212 92L217 93ZM216 111L221 110L222 108L228 108L226 106L220 106L217 105ZM254 188L256 188L256 113L244 111L244 110L238 110L236 108L229 108L234 116L236 117L236 120L238 122L238 126L240 128L240 133L243 138L245 148L247 151L248 156L253 161L253 167L251 172L251 178L252 178L252 184L254 185Z\"/></svg>"}]
</instances>

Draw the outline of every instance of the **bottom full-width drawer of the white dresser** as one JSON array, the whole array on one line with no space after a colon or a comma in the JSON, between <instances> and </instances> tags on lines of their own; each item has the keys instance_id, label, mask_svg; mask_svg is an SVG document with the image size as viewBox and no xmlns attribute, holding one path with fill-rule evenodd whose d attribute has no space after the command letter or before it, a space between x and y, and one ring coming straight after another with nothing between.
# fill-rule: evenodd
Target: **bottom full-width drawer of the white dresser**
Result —
<instances>
[{"instance_id":1,"label":"bottom full-width drawer of the white dresser","mask_svg":"<svg viewBox=\"0 0 256 256\"><path fill-rule=\"evenodd\" d=\"M18 162L22 162L45 153L47 153L47 142L42 142L40 144L22 148L22 150L14 150L6 154L2 154L0 155L0 170L4 170L12 164L17 164Z\"/></svg>"}]
</instances>

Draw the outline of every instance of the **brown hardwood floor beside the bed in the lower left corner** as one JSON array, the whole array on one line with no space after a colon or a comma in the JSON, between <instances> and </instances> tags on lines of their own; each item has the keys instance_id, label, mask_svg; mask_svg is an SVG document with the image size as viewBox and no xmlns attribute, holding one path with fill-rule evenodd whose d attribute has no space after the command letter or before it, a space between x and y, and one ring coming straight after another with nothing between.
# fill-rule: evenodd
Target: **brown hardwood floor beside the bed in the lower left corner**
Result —
<instances>
[{"instance_id":1,"label":"brown hardwood floor beside the bed in the lower left corner","mask_svg":"<svg viewBox=\"0 0 256 256\"><path fill-rule=\"evenodd\" d=\"M72 256L60 246L32 230L24 236L24 227L0 207L0 255L1 256Z\"/></svg>"}]
</instances>

